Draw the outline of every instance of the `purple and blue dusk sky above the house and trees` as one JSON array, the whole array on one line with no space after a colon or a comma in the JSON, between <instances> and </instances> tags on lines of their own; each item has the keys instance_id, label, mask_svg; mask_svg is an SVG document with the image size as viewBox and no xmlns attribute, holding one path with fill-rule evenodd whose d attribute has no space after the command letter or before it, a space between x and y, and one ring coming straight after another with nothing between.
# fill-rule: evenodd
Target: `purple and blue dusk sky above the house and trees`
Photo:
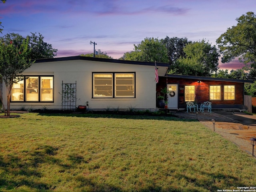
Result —
<instances>
[{"instance_id":1,"label":"purple and blue dusk sky above the house and trees","mask_svg":"<svg viewBox=\"0 0 256 192\"><path fill-rule=\"evenodd\" d=\"M92 53L92 41L118 59L146 37L204 39L213 46L249 11L256 12L255 0L7 0L0 3L0 21L2 35L41 33L57 57Z\"/></svg>"}]
</instances>

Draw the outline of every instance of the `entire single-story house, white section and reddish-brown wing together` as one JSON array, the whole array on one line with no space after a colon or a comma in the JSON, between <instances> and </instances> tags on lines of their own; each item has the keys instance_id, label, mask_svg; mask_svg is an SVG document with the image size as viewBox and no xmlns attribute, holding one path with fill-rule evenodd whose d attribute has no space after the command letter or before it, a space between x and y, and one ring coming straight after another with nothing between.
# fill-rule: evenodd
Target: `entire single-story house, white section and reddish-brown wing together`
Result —
<instances>
[{"instance_id":1,"label":"entire single-story house, white section and reddish-brown wing together","mask_svg":"<svg viewBox=\"0 0 256 192\"><path fill-rule=\"evenodd\" d=\"M244 84L249 80L166 74L169 64L72 56L38 59L14 84L10 108L76 110L156 110L156 98L167 87L168 108L186 102L212 102L212 108L244 109ZM4 83L4 82L3 82ZM6 87L2 86L6 105Z\"/></svg>"}]
</instances>

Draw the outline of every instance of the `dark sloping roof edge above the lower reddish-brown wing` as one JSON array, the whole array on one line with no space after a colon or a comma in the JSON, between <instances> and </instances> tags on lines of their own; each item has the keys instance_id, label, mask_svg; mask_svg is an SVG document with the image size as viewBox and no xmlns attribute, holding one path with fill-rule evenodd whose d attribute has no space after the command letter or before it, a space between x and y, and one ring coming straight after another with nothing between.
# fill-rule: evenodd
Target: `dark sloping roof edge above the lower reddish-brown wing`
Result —
<instances>
[{"instance_id":1,"label":"dark sloping roof edge above the lower reddish-brown wing","mask_svg":"<svg viewBox=\"0 0 256 192\"><path fill-rule=\"evenodd\" d=\"M167 74L167 77L195 79L195 80L209 80L209 81L228 81L228 82L240 82L240 83L253 83L254 82L252 80L242 80L242 79L201 77L201 76L189 76L189 75L172 75L172 74Z\"/></svg>"}]
</instances>

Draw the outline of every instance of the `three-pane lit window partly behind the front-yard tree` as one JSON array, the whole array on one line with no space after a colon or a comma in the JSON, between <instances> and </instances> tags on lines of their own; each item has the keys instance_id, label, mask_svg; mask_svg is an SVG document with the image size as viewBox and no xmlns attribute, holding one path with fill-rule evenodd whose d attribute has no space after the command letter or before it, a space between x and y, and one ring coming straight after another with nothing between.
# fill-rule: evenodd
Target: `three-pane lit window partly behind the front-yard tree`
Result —
<instances>
[{"instance_id":1,"label":"three-pane lit window partly behind the front-yard tree","mask_svg":"<svg viewBox=\"0 0 256 192\"><path fill-rule=\"evenodd\" d=\"M12 87L12 101L53 102L53 76L24 76Z\"/></svg>"}]
</instances>

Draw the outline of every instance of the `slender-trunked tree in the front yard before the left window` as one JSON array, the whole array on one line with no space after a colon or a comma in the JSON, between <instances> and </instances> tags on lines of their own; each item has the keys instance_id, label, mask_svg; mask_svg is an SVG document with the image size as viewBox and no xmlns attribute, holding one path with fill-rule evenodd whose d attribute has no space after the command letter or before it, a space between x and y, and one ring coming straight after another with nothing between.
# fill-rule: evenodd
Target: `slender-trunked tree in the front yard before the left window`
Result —
<instances>
[{"instance_id":1,"label":"slender-trunked tree in the front yard before the left window","mask_svg":"<svg viewBox=\"0 0 256 192\"><path fill-rule=\"evenodd\" d=\"M28 59L30 54L28 44L28 38L24 39L20 46L16 46L12 41L6 43L6 41L0 40L0 77L6 85L7 111L5 111L4 103L2 102L1 90L0 98L5 116L10 116L10 100L13 84L22 80L22 72L33 63Z\"/></svg>"}]
</instances>

